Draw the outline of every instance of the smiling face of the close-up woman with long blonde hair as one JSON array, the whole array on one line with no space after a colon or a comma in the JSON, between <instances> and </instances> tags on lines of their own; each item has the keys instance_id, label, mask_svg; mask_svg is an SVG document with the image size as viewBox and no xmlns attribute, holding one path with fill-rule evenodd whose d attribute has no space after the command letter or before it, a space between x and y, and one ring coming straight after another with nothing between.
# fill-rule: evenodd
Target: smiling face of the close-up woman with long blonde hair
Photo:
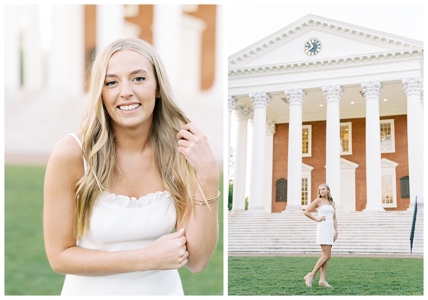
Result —
<instances>
[{"instance_id":1,"label":"smiling face of the close-up woman with long blonde hair","mask_svg":"<svg viewBox=\"0 0 428 300\"><path fill-rule=\"evenodd\" d=\"M155 71L149 60L133 50L114 52L108 65L102 99L113 128L152 125L159 97Z\"/></svg>"}]
</instances>

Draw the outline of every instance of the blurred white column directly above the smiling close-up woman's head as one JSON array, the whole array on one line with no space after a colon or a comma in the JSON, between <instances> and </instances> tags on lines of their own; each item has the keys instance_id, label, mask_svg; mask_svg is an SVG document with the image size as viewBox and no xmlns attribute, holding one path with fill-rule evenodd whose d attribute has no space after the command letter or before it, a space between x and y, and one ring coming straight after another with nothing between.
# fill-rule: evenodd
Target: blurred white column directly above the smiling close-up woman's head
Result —
<instances>
[{"instance_id":1,"label":"blurred white column directly above the smiling close-up woman's head","mask_svg":"<svg viewBox=\"0 0 428 300\"><path fill-rule=\"evenodd\" d=\"M124 38L125 6L124 4L97 4L97 49L101 50L111 42Z\"/></svg>"}]
</instances>

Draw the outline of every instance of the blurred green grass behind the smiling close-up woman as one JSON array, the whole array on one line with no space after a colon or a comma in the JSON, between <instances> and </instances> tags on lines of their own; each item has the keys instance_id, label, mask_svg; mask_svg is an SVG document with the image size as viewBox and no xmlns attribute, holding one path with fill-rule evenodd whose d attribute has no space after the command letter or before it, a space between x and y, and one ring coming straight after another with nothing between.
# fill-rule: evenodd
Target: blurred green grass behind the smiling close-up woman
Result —
<instances>
[{"instance_id":1,"label":"blurred green grass behind the smiling close-up woman","mask_svg":"<svg viewBox=\"0 0 428 300\"><path fill-rule=\"evenodd\" d=\"M43 241L44 178L45 167L5 166L5 295L61 292L65 275L51 269ZM220 191L222 184L220 178ZM223 209L219 223L219 242L208 266L198 274L179 270L185 294L223 294Z\"/></svg>"}]
</instances>

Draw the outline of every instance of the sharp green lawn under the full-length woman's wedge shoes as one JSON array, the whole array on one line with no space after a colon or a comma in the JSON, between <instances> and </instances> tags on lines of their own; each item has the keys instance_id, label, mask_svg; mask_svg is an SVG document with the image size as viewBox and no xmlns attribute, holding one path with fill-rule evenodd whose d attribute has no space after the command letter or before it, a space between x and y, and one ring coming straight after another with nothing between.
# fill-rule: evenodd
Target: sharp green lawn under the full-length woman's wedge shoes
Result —
<instances>
[{"instance_id":1,"label":"sharp green lawn under the full-length woman's wedge shoes","mask_svg":"<svg viewBox=\"0 0 428 300\"><path fill-rule=\"evenodd\" d=\"M334 253L333 253L334 256ZM303 277L319 257L229 257L229 295L423 295L423 259L332 257L326 280Z\"/></svg>"}]
</instances>

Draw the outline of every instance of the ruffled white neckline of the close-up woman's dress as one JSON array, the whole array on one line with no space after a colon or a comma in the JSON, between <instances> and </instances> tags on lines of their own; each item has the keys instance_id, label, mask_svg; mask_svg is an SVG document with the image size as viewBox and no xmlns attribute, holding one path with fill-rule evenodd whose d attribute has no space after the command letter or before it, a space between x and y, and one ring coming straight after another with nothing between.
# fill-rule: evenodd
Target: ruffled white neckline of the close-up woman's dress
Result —
<instances>
[{"instance_id":1,"label":"ruffled white neckline of the close-up woman's dress","mask_svg":"<svg viewBox=\"0 0 428 300\"><path fill-rule=\"evenodd\" d=\"M158 203L160 201L173 200L168 191L158 191L141 196L140 198L128 197L124 195L116 195L110 192L103 192L99 198L99 202L110 203L117 206L128 208L146 207L148 205Z\"/></svg>"}]
</instances>

